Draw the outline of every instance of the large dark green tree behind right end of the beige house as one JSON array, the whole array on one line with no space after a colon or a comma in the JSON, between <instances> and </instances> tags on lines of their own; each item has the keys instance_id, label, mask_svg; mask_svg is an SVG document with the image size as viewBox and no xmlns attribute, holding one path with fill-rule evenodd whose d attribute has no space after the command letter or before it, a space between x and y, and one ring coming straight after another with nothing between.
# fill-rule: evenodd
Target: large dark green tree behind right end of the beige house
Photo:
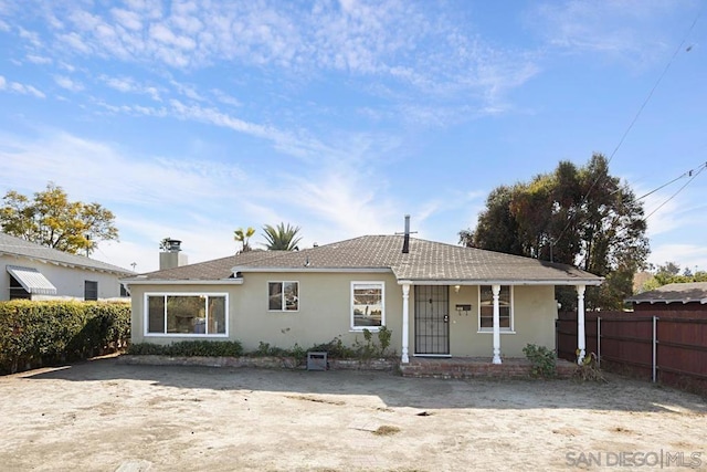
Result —
<instances>
[{"instance_id":1,"label":"large dark green tree behind right end of the beige house","mask_svg":"<svg viewBox=\"0 0 707 472\"><path fill-rule=\"evenodd\" d=\"M588 307L620 308L632 294L633 274L646 263L645 231L643 204L609 174L606 158L594 154L585 166L560 161L552 174L496 188L476 229L463 230L460 240L605 276L601 289L588 289ZM576 305L576 295L557 292L564 307Z\"/></svg>"}]
</instances>

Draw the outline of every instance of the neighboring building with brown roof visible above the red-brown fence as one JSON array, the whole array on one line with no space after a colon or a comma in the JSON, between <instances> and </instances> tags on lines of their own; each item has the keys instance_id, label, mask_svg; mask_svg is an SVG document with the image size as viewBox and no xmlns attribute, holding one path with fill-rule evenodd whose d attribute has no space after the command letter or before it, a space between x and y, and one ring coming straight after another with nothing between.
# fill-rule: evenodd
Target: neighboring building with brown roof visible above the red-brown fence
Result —
<instances>
[{"instance_id":1,"label":"neighboring building with brown roof visible above the red-brown fence","mask_svg":"<svg viewBox=\"0 0 707 472\"><path fill-rule=\"evenodd\" d=\"M707 312L707 282L672 283L625 300L634 312Z\"/></svg>"}]
</instances>

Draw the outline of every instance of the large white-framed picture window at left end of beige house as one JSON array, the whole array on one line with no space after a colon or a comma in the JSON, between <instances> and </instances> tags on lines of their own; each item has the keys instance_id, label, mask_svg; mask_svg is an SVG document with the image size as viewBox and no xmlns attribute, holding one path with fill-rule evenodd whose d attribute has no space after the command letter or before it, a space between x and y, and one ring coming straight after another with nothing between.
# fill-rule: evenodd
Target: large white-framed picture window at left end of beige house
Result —
<instances>
[{"instance_id":1,"label":"large white-framed picture window at left end of beige house","mask_svg":"<svg viewBox=\"0 0 707 472\"><path fill-rule=\"evenodd\" d=\"M146 294L146 335L225 336L225 294Z\"/></svg>"}]
</instances>

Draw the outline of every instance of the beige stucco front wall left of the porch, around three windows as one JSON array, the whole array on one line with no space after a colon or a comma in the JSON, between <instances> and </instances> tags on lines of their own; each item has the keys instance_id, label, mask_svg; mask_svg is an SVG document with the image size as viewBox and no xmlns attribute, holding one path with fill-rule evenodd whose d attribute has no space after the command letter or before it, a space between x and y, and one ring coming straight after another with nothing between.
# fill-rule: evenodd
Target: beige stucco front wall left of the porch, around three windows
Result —
<instances>
[{"instance_id":1,"label":"beige stucco front wall left of the porch, around three windows","mask_svg":"<svg viewBox=\"0 0 707 472\"><path fill-rule=\"evenodd\" d=\"M267 310L267 283L299 282L299 311ZM345 345L352 345L361 332L350 329L351 282L384 282L386 325L393 332L392 348L400 353L402 332L402 287L390 273L274 273L245 274L242 285L133 285L133 343L168 344L176 340L211 338L189 336L145 336L145 293L228 293L229 338L242 343L245 352L254 350L261 342L291 348L298 344L309 348L340 336Z\"/></svg>"}]
</instances>

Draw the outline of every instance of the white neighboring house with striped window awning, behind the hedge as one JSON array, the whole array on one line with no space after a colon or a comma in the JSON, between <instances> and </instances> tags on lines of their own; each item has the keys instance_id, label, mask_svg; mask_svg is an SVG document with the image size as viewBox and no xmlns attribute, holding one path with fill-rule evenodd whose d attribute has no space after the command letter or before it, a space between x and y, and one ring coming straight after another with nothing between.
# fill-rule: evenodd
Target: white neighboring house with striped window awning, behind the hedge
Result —
<instances>
[{"instance_id":1,"label":"white neighboring house with striped window awning, behind the hedge","mask_svg":"<svg viewBox=\"0 0 707 472\"><path fill-rule=\"evenodd\" d=\"M45 248L0 232L0 300L127 297L120 283L133 272ZM127 298L125 298L127 300Z\"/></svg>"}]
</instances>

